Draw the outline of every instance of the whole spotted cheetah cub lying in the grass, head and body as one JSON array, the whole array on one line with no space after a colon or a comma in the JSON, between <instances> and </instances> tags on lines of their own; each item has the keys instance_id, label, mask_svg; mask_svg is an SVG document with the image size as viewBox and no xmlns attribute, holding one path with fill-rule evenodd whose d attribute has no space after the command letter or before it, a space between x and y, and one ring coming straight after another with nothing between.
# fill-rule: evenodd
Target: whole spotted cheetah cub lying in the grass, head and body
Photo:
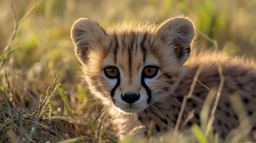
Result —
<instances>
[{"instance_id":1,"label":"whole spotted cheetah cub lying in the grass, head and body","mask_svg":"<svg viewBox=\"0 0 256 143\"><path fill-rule=\"evenodd\" d=\"M118 114L113 124L121 138L141 125L145 126L143 135L148 134L149 125L153 125L151 135L174 129L199 67L198 82L181 116L182 129L200 125L209 90L220 86L218 67L225 80L214 114L214 132L225 138L240 125L230 102L234 92L239 93L248 116L256 112L255 63L215 51L191 54L194 36L193 23L184 17L170 18L161 25L123 22L108 29L88 18L74 22L71 37L83 78L102 101L103 110ZM192 110L194 115L187 121ZM250 128L255 130L253 125Z\"/></svg>"}]
</instances>

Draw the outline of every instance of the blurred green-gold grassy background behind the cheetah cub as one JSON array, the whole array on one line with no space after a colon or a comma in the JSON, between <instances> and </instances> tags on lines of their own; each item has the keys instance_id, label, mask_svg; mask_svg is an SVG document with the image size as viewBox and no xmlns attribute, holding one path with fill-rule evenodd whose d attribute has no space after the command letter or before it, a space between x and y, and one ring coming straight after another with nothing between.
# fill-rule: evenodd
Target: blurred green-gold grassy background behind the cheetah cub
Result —
<instances>
[{"instance_id":1,"label":"blurred green-gold grassy background behind the cheetah cub","mask_svg":"<svg viewBox=\"0 0 256 143\"><path fill-rule=\"evenodd\" d=\"M16 20L19 21L38 1L13 0ZM0 1L0 51L4 50L14 29L11 1ZM11 47L18 47L5 62L4 71L19 96L29 93L35 100L45 94L56 74L57 83L65 90L73 110L83 114L95 108L81 109L93 102L80 80L79 63L75 58L70 29L82 16L98 21L103 27L123 20L155 20L167 17L190 16L198 35L198 50L218 49L230 55L256 57L256 1L255 0L45 0L18 27ZM59 96L56 96L57 99ZM72 97L72 98L70 98ZM54 102L55 101L55 102ZM63 105L52 101L56 114L63 114ZM80 103L80 104L76 104Z\"/></svg>"}]
</instances>

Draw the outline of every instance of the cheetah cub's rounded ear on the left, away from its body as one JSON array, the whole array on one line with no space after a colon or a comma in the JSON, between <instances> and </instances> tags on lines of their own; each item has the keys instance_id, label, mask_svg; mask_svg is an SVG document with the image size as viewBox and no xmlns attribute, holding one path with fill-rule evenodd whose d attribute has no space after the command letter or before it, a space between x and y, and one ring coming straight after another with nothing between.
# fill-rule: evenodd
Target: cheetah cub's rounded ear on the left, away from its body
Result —
<instances>
[{"instance_id":1,"label":"cheetah cub's rounded ear on the left, away from its body","mask_svg":"<svg viewBox=\"0 0 256 143\"><path fill-rule=\"evenodd\" d=\"M98 23L88 18L76 20L71 29L71 38L75 45L75 55L82 64L88 60L93 47L100 44L107 34Z\"/></svg>"}]
</instances>

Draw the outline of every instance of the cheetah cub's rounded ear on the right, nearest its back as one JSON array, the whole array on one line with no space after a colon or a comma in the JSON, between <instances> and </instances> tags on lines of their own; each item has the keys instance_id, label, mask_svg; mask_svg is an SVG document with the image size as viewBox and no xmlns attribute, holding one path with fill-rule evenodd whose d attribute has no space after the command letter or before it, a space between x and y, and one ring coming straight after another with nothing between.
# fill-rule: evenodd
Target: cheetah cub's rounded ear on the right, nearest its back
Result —
<instances>
[{"instance_id":1,"label":"cheetah cub's rounded ear on the right, nearest its back","mask_svg":"<svg viewBox=\"0 0 256 143\"><path fill-rule=\"evenodd\" d=\"M176 58L182 64L186 62L190 56L190 45L195 35L194 25L189 19L184 17L170 18L156 30L156 35L173 49Z\"/></svg>"}]
</instances>

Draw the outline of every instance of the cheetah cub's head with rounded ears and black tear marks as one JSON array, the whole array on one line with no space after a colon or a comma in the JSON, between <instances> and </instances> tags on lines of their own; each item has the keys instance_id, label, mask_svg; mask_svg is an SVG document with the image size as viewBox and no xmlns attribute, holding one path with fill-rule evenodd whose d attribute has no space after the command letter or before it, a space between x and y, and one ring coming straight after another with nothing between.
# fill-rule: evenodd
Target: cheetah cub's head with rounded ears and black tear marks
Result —
<instances>
[{"instance_id":1,"label":"cheetah cub's head with rounded ears and black tear marks","mask_svg":"<svg viewBox=\"0 0 256 143\"><path fill-rule=\"evenodd\" d=\"M90 91L106 107L133 113L150 111L173 93L194 33L193 23L184 17L158 26L123 22L105 30L80 18L71 37Z\"/></svg>"}]
</instances>

